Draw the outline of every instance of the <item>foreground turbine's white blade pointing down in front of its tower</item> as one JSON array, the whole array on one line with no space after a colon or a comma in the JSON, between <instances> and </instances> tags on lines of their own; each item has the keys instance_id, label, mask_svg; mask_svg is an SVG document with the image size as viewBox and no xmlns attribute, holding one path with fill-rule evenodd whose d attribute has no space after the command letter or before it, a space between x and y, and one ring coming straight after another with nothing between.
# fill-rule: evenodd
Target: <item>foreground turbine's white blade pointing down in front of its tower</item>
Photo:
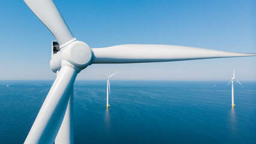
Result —
<instances>
[{"instance_id":1,"label":"foreground turbine's white blade pointing down in front of its tower","mask_svg":"<svg viewBox=\"0 0 256 144\"><path fill-rule=\"evenodd\" d=\"M54 142L66 113L70 90L77 74L71 67L61 68L24 143Z\"/></svg>"}]
</instances>

